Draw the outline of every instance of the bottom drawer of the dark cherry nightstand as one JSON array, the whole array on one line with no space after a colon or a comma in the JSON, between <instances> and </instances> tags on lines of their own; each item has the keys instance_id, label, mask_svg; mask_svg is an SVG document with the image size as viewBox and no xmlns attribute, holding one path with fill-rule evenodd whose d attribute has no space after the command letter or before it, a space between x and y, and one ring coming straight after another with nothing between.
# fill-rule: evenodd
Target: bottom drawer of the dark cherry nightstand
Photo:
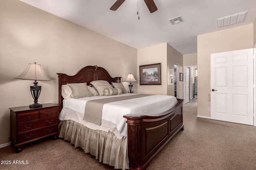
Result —
<instances>
[{"instance_id":1,"label":"bottom drawer of the dark cherry nightstand","mask_svg":"<svg viewBox=\"0 0 256 170\"><path fill-rule=\"evenodd\" d=\"M45 137L47 135L51 135L52 133L56 133L56 132L58 132L58 124L48 126L48 127L43 127L43 128L36 129L33 131L19 133L18 134L18 143L31 141L32 139L36 139L39 137Z\"/></svg>"}]
</instances>

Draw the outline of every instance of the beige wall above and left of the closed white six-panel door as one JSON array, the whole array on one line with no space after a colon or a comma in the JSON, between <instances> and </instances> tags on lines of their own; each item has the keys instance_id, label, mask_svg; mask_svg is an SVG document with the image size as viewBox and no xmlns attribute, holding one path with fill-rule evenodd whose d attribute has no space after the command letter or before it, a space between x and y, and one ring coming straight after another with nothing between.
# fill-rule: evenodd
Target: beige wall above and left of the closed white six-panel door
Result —
<instances>
[{"instance_id":1,"label":"beige wall above and left of the closed white six-panel door","mask_svg":"<svg viewBox=\"0 0 256 170\"><path fill-rule=\"evenodd\" d=\"M210 117L210 55L253 47L253 24L224 29L197 37L198 115Z\"/></svg>"}]
</instances>

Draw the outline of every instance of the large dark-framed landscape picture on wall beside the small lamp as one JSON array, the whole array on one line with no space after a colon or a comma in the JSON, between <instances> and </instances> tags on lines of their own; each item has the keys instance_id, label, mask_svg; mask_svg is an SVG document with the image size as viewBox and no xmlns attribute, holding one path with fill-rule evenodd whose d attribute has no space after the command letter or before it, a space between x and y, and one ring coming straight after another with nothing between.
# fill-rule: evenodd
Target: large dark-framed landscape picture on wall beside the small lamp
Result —
<instances>
[{"instance_id":1,"label":"large dark-framed landscape picture on wall beside the small lamp","mask_svg":"<svg viewBox=\"0 0 256 170\"><path fill-rule=\"evenodd\" d=\"M140 85L162 85L161 63L140 66Z\"/></svg>"}]
</instances>

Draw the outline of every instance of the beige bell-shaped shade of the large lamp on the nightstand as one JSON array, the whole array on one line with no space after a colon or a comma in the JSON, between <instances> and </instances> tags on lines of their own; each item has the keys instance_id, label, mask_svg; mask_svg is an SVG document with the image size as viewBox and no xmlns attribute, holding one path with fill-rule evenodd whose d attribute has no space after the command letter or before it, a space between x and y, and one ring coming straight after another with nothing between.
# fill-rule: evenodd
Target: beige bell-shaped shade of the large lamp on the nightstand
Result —
<instances>
[{"instance_id":1,"label":"beige bell-shaped shade of the large lamp on the nightstand","mask_svg":"<svg viewBox=\"0 0 256 170\"><path fill-rule=\"evenodd\" d=\"M26 70L16 78L23 80L50 80L44 73L42 66L36 64L36 62L34 64L28 64Z\"/></svg>"}]
</instances>

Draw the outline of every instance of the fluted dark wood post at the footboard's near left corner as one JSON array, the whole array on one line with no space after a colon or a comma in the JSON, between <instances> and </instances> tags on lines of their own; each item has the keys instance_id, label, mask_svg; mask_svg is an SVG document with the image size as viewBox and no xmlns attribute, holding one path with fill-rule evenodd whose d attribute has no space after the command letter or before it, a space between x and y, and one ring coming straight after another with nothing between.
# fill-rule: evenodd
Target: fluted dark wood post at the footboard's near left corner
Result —
<instances>
[{"instance_id":1,"label":"fluted dark wood post at the footboard's near left corner","mask_svg":"<svg viewBox=\"0 0 256 170\"><path fill-rule=\"evenodd\" d=\"M130 170L146 169L143 160L143 117L126 117L128 124L128 158Z\"/></svg>"}]
</instances>

